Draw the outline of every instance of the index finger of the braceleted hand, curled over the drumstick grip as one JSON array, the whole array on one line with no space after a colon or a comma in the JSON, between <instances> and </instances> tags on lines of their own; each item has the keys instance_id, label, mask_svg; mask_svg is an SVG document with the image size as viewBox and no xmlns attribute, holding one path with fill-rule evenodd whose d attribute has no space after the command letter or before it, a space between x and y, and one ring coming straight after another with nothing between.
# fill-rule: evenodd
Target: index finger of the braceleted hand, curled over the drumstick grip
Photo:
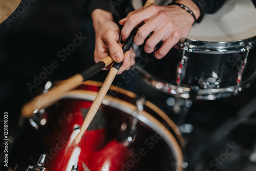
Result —
<instances>
[{"instance_id":1,"label":"index finger of the braceleted hand, curled over the drumstick grip","mask_svg":"<svg viewBox=\"0 0 256 171\"><path fill-rule=\"evenodd\" d=\"M147 18L153 16L157 11L156 7L156 5L151 5L128 17L121 30L122 39L125 40L130 35L131 31L134 29L135 26L137 26Z\"/></svg>"}]
</instances>

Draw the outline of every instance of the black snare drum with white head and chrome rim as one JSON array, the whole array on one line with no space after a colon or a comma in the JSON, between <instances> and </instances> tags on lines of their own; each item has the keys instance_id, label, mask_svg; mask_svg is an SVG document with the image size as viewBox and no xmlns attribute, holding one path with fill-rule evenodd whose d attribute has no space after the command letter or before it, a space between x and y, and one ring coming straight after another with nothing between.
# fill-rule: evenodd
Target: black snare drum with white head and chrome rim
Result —
<instances>
[{"instance_id":1,"label":"black snare drum with white head and chrome rim","mask_svg":"<svg viewBox=\"0 0 256 171\"><path fill-rule=\"evenodd\" d=\"M255 16L250 0L229 0L205 15L167 56L158 60L142 52L137 66L148 84L170 95L204 100L236 95L256 76Z\"/></svg>"}]
</instances>

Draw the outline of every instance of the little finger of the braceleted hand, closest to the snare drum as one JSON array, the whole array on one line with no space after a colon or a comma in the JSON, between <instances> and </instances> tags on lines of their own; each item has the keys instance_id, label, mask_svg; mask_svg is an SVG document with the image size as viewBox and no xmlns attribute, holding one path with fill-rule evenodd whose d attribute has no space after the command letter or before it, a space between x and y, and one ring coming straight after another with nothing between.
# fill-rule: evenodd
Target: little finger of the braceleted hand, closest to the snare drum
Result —
<instances>
[{"instance_id":1,"label":"little finger of the braceleted hand, closest to the snare drum","mask_svg":"<svg viewBox=\"0 0 256 171\"><path fill-rule=\"evenodd\" d=\"M161 59L164 56L166 56L169 50L172 49L173 46L176 45L179 40L179 33L173 33L173 37L166 39L166 41L163 42L161 48L155 52L155 57L157 59Z\"/></svg>"}]
</instances>

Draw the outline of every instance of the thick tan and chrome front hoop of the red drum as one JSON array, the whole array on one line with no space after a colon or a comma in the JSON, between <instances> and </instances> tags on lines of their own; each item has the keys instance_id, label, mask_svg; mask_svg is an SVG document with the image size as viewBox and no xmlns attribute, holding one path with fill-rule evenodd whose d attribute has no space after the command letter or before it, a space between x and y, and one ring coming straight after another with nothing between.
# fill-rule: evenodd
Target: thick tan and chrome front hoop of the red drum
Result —
<instances>
[{"instance_id":1,"label":"thick tan and chrome front hoop of the red drum","mask_svg":"<svg viewBox=\"0 0 256 171\"><path fill-rule=\"evenodd\" d=\"M87 91L87 90L73 90L63 94L61 100L65 99L81 99L81 100L91 100L93 101L97 95L97 92ZM112 108L124 111L125 113L134 116L134 111L137 110L137 107L134 104L126 102L121 99L117 99L115 97L106 95L102 104L111 106ZM152 109L153 110L153 109ZM160 109L159 109L160 110ZM135 116L134 116L135 117ZM146 111L139 111L136 118L148 125L152 130L158 133L168 145L170 149L172 149L174 159L176 160L176 171L182 170L183 163L183 154L182 148L179 145L178 141L175 139L174 135L168 131L168 129L155 117L149 114ZM169 124L167 122L167 124ZM171 125L170 125L171 126ZM171 126L172 127L172 126ZM173 129L173 127L172 127ZM177 128L178 129L178 128ZM177 130L174 130L175 132Z\"/></svg>"}]
</instances>

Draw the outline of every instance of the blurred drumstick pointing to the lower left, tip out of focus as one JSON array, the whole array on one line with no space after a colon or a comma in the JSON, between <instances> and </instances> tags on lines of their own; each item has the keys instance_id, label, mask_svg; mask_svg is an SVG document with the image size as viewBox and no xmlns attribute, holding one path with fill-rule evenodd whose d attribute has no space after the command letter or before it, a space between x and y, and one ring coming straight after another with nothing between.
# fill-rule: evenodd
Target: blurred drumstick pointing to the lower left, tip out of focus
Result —
<instances>
[{"instance_id":1,"label":"blurred drumstick pointing to the lower left, tip out of focus","mask_svg":"<svg viewBox=\"0 0 256 171\"><path fill-rule=\"evenodd\" d=\"M30 102L26 103L22 108L22 116L26 118L31 117L33 115L33 111L47 108L52 105L62 97L63 93L75 89L83 81L92 77L106 66L109 66L112 62L113 59L108 56L80 74L76 74L59 82L48 93L40 94Z\"/></svg>"}]
</instances>

